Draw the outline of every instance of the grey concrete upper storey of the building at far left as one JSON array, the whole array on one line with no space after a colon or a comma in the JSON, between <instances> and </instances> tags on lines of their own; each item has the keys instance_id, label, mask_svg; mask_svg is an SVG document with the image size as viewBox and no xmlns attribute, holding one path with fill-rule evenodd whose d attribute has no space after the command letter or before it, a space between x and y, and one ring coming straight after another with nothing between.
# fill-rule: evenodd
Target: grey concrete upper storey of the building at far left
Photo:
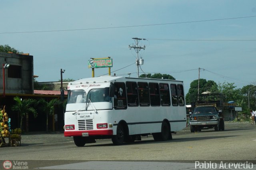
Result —
<instances>
[{"instance_id":1,"label":"grey concrete upper storey of the building at far left","mask_svg":"<svg viewBox=\"0 0 256 170\"><path fill-rule=\"evenodd\" d=\"M5 93L6 94L33 94L34 92L34 65L32 55L20 55L0 52L0 66L8 63L10 67L5 69ZM14 69L15 67L15 69ZM16 69L18 68L18 69ZM9 72L9 73L8 73ZM13 75L16 75L16 77ZM3 71L0 70L0 93L3 93Z\"/></svg>"}]
</instances>

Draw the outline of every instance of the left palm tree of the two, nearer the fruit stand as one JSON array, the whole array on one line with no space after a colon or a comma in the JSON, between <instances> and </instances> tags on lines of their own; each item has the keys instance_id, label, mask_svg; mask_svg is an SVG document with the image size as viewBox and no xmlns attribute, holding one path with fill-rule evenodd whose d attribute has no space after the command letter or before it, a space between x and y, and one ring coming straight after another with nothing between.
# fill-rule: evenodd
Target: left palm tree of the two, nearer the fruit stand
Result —
<instances>
[{"instance_id":1,"label":"left palm tree of the two, nearer the fruit stand","mask_svg":"<svg viewBox=\"0 0 256 170\"><path fill-rule=\"evenodd\" d=\"M23 117L28 114L32 113L34 117L37 116L36 109L34 109L33 104L36 103L34 99L20 99L20 97L16 96L13 98L16 101L15 105L12 106L13 111L18 111L20 117L20 129L22 129L22 120Z\"/></svg>"}]
</instances>

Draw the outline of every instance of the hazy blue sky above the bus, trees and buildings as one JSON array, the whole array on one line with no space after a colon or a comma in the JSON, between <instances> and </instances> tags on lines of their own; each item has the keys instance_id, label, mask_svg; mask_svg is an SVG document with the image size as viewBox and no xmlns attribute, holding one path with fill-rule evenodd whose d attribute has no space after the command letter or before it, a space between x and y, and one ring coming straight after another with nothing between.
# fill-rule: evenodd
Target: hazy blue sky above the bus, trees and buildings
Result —
<instances>
[{"instance_id":1,"label":"hazy blue sky above the bus, trees and buildings","mask_svg":"<svg viewBox=\"0 0 256 170\"><path fill-rule=\"evenodd\" d=\"M91 77L88 59L108 56L112 74L137 77L128 45L143 38L141 69L184 81L186 92L198 68L216 83L256 83L255 0L1 0L0 15L0 44L33 55L39 82L58 81L60 69Z\"/></svg>"}]
</instances>

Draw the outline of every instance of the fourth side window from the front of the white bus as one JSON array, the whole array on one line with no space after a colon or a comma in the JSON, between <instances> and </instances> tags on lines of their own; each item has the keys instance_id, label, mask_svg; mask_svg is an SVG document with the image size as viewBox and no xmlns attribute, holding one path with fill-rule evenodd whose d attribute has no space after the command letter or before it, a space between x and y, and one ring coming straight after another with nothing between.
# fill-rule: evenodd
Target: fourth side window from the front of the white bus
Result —
<instances>
[{"instance_id":1,"label":"fourth side window from the front of the white bus","mask_svg":"<svg viewBox=\"0 0 256 170\"><path fill-rule=\"evenodd\" d=\"M160 106L160 92L158 83L148 83L150 92L150 105Z\"/></svg>"}]
</instances>

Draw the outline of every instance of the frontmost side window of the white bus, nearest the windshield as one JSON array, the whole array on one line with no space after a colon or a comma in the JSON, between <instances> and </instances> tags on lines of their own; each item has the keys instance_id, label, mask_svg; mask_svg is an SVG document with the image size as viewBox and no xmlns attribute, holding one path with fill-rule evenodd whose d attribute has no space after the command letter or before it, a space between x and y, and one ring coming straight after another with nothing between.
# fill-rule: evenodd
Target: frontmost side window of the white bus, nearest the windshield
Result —
<instances>
[{"instance_id":1,"label":"frontmost side window of the white bus, nearest the windshield","mask_svg":"<svg viewBox=\"0 0 256 170\"><path fill-rule=\"evenodd\" d=\"M127 109L126 87L123 82L115 82L114 109Z\"/></svg>"}]
</instances>

